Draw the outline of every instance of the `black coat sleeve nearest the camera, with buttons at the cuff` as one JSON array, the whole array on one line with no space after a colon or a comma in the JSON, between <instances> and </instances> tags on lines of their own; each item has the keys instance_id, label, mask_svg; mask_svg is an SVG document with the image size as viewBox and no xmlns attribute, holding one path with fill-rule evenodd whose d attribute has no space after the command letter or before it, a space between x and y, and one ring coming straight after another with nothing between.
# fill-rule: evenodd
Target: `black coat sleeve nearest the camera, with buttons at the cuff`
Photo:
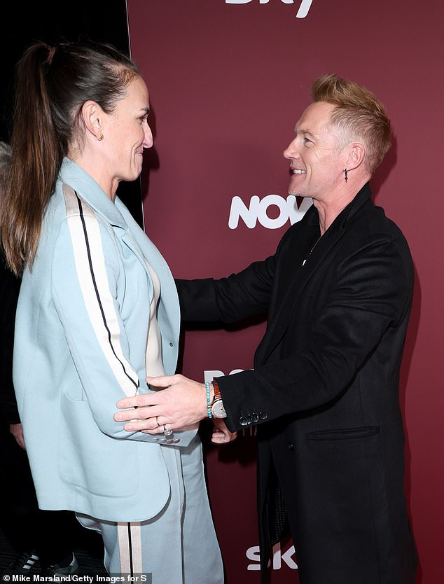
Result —
<instances>
[{"instance_id":1,"label":"black coat sleeve nearest the camera, with buttons at the cuff","mask_svg":"<svg viewBox=\"0 0 444 584\"><path fill-rule=\"evenodd\" d=\"M408 317L411 302L412 268L396 242L380 237L349 256L328 303L312 315L305 347L218 378L228 428L242 429L251 416L261 424L333 401L383 335Z\"/></svg>"}]
</instances>

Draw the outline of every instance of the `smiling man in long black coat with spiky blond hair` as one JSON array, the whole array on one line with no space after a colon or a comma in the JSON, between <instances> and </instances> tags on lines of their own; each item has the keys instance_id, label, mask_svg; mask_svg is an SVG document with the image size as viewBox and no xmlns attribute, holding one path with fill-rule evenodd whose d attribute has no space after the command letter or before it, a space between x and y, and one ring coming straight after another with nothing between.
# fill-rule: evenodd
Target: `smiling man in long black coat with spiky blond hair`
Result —
<instances>
[{"instance_id":1,"label":"smiling man in long black coat with spiky blond hair","mask_svg":"<svg viewBox=\"0 0 444 584\"><path fill-rule=\"evenodd\" d=\"M254 370L218 377L208 404L215 441L258 426L262 581L286 508L302 584L412 584L398 378L413 268L368 186L390 123L373 93L335 75L315 81L312 98L284 156L289 193L313 206L265 261L217 281L178 280L182 316L231 322L268 310ZM116 415L132 419L125 428L159 433L207 416L204 384L148 382L167 389L121 401L138 406Z\"/></svg>"}]
</instances>

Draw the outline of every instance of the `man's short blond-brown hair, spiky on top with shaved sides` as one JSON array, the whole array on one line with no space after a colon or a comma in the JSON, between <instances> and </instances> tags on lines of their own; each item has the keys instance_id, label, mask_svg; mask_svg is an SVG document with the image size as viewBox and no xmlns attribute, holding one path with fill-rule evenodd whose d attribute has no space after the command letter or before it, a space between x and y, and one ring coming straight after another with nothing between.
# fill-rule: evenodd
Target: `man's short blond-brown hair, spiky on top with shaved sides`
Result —
<instances>
[{"instance_id":1,"label":"man's short blond-brown hair, spiky on top with shaved sides","mask_svg":"<svg viewBox=\"0 0 444 584\"><path fill-rule=\"evenodd\" d=\"M312 85L314 102L327 102L336 108L331 123L346 141L361 141L366 146L364 164L373 174L391 146L391 126L379 99L363 85L335 74L317 78Z\"/></svg>"}]
</instances>

